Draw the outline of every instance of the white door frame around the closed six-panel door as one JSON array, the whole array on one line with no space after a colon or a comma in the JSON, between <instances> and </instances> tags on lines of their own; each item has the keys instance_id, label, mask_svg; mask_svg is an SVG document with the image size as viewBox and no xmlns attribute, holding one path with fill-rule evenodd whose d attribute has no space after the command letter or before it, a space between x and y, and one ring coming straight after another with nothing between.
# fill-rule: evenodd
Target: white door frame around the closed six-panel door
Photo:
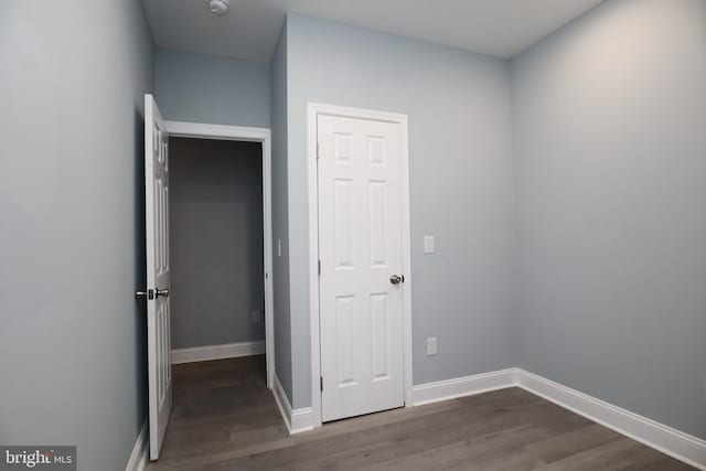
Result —
<instances>
[{"instance_id":1,"label":"white door frame around the closed six-panel door","mask_svg":"<svg viewBox=\"0 0 706 471\"><path fill-rule=\"evenodd\" d=\"M349 108L333 105L309 103L308 111L308 152L309 175L309 303L311 325L311 408L313 426L321 427L321 343L319 336L319 188L317 170L317 122L319 115L344 118L368 119L393 122L399 126L400 183L402 183L402 259L403 275L403 322L404 322L404 388L405 407L413 405L411 387L411 247L409 228L409 144L407 115L375 111L371 109Z\"/></svg>"}]
</instances>

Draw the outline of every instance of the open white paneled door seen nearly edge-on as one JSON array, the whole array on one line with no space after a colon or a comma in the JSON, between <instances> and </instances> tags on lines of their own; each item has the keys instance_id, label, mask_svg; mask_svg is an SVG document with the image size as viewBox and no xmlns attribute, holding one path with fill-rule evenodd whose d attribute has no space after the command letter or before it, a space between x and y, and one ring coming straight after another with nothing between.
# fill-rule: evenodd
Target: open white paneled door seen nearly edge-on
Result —
<instances>
[{"instance_id":1,"label":"open white paneled door seen nearly edge-on","mask_svg":"<svg viewBox=\"0 0 706 471\"><path fill-rule=\"evenodd\" d=\"M159 458L172 408L169 309L169 140L152 95L145 95L145 214L150 460Z\"/></svg>"}]
</instances>

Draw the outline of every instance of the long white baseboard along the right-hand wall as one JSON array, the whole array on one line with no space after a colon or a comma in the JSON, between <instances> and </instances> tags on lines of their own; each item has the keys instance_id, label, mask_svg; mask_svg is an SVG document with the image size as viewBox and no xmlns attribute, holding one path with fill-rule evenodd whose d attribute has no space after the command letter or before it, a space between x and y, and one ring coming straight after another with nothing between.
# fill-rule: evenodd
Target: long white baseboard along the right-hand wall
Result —
<instances>
[{"instance_id":1,"label":"long white baseboard along the right-hand wall","mask_svg":"<svg viewBox=\"0 0 706 471\"><path fill-rule=\"evenodd\" d=\"M706 440L523 370L517 372L517 386L664 454L706 470Z\"/></svg>"}]
</instances>

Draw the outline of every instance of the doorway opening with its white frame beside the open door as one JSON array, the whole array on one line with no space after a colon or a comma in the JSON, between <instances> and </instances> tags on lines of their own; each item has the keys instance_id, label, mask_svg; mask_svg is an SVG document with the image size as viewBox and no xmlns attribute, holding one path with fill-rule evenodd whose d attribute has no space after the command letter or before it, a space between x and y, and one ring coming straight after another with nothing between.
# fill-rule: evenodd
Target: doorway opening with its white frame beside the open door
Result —
<instances>
[{"instance_id":1,"label":"doorway opening with its white frame beside the open door","mask_svg":"<svg viewBox=\"0 0 706 471\"><path fill-rule=\"evenodd\" d=\"M265 355L275 374L270 131L165 121L172 363Z\"/></svg>"}]
</instances>

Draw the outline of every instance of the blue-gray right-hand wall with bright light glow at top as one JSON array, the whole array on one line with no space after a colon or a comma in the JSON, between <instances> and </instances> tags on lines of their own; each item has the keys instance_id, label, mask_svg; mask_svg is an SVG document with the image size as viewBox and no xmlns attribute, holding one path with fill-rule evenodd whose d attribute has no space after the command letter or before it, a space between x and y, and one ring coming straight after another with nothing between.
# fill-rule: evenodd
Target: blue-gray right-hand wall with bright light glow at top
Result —
<instances>
[{"instance_id":1,"label":"blue-gray right-hand wall with bright light glow at top","mask_svg":"<svg viewBox=\"0 0 706 471\"><path fill-rule=\"evenodd\" d=\"M706 438L706 2L605 2L513 82L518 365Z\"/></svg>"}]
</instances>

